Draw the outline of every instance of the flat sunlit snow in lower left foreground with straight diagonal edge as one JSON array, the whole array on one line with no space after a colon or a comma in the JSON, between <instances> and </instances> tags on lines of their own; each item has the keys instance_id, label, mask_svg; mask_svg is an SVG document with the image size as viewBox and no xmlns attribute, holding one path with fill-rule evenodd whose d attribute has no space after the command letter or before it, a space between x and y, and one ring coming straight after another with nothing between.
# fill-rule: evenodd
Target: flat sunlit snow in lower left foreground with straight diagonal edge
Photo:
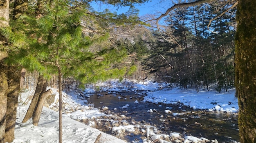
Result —
<instances>
[{"instance_id":1,"label":"flat sunlit snow in lower left foreground with straight diagonal edge","mask_svg":"<svg viewBox=\"0 0 256 143\"><path fill-rule=\"evenodd\" d=\"M15 126L15 140L12 143L58 143L58 113L43 107L38 126L32 125L31 119L21 123L28 106L19 106ZM101 133L104 143L125 143L109 134L86 126L63 115L63 143L94 143Z\"/></svg>"}]
</instances>

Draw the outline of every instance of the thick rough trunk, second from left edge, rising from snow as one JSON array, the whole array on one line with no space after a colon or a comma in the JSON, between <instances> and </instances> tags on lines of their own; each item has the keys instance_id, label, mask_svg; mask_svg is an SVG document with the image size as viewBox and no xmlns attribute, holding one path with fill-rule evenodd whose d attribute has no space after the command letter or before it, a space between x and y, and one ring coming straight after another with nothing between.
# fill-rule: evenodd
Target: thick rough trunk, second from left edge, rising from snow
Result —
<instances>
[{"instance_id":1,"label":"thick rough trunk, second from left edge, rising from snow","mask_svg":"<svg viewBox=\"0 0 256 143\"><path fill-rule=\"evenodd\" d=\"M14 139L14 127L20 91L20 69L15 66L9 66L7 76L9 81L4 142L10 143Z\"/></svg>"}]
</instances>

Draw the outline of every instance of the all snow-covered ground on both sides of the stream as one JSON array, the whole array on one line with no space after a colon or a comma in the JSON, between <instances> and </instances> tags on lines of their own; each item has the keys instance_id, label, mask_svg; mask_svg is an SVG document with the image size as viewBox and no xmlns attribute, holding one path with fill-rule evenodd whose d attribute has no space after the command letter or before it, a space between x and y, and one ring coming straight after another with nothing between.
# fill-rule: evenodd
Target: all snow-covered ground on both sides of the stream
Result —
<instances>
[{"instance_id":1,"label":"all snow-covered ground on both sides of the stream","mask_svg":"<svg viewBox=\"0 0 256 143\"><path fill-rule=\"evenodd\" d=\"M157 88L162 85L153 82L144 82L144 84L125 82L119 84L117 81L111 81L100 83L96 86L101 87L103 91L145 90L148 93L148 96L144 97L145 102L182 102L184 105L190 106L191 108L207 109L209 111L227 113L236 113L238 111L238 100L235 98L234 90L225 93L217 93L215 91L200 91L196 93L194 90L177 88L157 91ZM52 90L56 94L54 103L49 105L49 108L52 110L46 107L43 108L38 126L33 126L31 119L29 119L27 123L21 123L29 106L29 104L22 105L22 103L27 100L28 94L31 95L31 91L22 93L21 102L17 110L15 140L12 143L58 143L58 112L56 112L58 110L58 92L56 89ZM93 92L95 91L92 87L85 90L85 93ZM97 108L90 108L86 100L79 100L77 97L78 93L76 92L70 92L68 95L63 93L63 108L65 110L63 111L63 143L94 143L100 133L102 136L99 143L124 143L121 139L117 139L90 126L86 126L79 121L75 121L74 119L81 120L111 116L101 113ZM91 124L93 125L95 123L92 122ZM146 130L147 129L148 128L146 128ZM157 137L159 136L156 135L155 138ZM188 143L194 139L189 136L186 138Z\"/></svg>"}]
</instances>

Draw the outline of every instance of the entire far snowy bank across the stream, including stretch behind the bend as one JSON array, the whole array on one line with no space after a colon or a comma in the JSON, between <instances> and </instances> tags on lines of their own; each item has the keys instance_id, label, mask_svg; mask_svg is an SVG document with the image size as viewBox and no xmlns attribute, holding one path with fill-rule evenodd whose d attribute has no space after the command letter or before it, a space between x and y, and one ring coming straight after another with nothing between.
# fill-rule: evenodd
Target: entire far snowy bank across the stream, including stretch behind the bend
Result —
<instances>
[{"instance_id":1,"label":"entire far snowy bank across the stream, including stretch behind the bend","mask_svg":"<svg viewBox=\"0 0 256 143\"><path fill-rule=\"evenodd\" d=\"M221 91L202 91L196 92L195 89L182 89L178 87L164 88L164 83L145 81L143 84L135 84L129 81L118 82L110 81L98 84L103 91L148 91L144 97L145 102L175 104L177 102L190 106L193 109L208 109L209 111L222 111L227 113L238 112L238 100L235 97L235 89L229 89L228 92Z\"/></svg>"}]
</instances>

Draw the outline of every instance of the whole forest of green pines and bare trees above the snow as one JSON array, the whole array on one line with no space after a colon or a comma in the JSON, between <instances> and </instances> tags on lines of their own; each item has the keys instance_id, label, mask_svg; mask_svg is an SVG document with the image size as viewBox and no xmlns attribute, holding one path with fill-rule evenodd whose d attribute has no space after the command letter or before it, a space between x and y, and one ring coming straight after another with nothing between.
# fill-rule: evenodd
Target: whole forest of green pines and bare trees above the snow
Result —
<instances>
[{"instance_id":1,"label":"whole forest of green pines and bare trees above the snow","mask_svg":"<svg viewBox=\"0 0 256 143\"><path fill-rule=\"evenodd\" d=\"M255 86L248 83L255 76L251 72L255 67L251 62L255 61L252 58L254 32L247 31L254 29L254 16L250 14L255 2L178 2L170 8L173 11L168 9L168 13L158 18L143 20L133 4L147 1L96 0L119 8L130 7L121 14L108 9L96 11L91 5L93 0L2 1L0 143L14 139L18 93L24 82L32 84L28 76L25 78L29 74L29 78L38 78L33 79L37 81L33 83L37 84L35 104L47 86L58 87L60 127L63 89L74 83L75 87L83 88L87 83L110 78L128 78L135 82L148 78L197 91L213 88L220 92L236 86L237 96L243 103L240 112L244 114L240 119L246 115L245 108L255 111L252 110L254 106L250 106L254 100L245 100L249 93L255 95L254 90L246 90ZM236 4L238 8L234 9ZM248 18L245 23L243 15ZM160 19L165 24L159 26ZM250 112L249 115L252 116L248 119L254 119L254 114ZM244 134L249 130L246 129L248 125L240 121L244 129L241 134ZM60 128L59 134L61 132ZM241 138L242 141L247 139ZM249 134L248 139L254 141L252 138L255 139L255 135Z\"/></svg>"}]
</instances>

